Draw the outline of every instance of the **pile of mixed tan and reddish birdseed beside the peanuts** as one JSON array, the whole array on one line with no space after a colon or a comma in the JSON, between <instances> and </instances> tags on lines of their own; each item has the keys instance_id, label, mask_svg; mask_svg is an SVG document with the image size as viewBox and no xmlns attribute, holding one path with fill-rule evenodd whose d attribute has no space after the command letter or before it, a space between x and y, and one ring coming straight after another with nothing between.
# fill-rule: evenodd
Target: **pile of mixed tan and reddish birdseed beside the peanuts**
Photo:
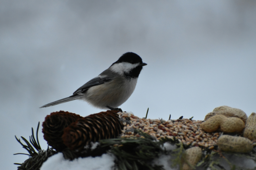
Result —
<instances>
[{"instance_id":1,"label":"pile of mixed tan and reddish birdseed beside the peanuts","mask_svg":"<svg viewBox=\"0 0 256 170\"><path fill-rule=\"evenodd\" d=\"M123 118L123 130L121 137L143 137L134 133L135 129L139 129L144 133L152 135L156 139L160 138L173 138L176 137L183 144L192 146L201 146L209 149L214 149L214 145L217 145L217 139L219 133L206 133L202 131L200 124L201 120L158 120L158 119L145 119L138 118L131 113L119 112L121 118Z\"/></svg>"}]
</instances>

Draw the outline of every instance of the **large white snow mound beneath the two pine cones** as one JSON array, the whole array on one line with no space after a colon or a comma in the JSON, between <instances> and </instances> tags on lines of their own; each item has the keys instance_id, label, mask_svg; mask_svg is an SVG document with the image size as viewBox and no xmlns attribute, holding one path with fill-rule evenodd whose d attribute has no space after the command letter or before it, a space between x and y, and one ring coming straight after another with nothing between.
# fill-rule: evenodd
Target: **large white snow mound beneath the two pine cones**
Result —
<instances>
[{"instance_id":1,"label":"large white snow mound beneath the two pine cones","mask_svg":"<svg viewBox=\"0 0 256 170\"><path fill-rule=\"evenodd\" d=\"M51 156L44 162L41 170L111 170L114 166L115 157L103 154L97 157L77 158L65 160L62 153Z\"/></svg>"}]
</instances>

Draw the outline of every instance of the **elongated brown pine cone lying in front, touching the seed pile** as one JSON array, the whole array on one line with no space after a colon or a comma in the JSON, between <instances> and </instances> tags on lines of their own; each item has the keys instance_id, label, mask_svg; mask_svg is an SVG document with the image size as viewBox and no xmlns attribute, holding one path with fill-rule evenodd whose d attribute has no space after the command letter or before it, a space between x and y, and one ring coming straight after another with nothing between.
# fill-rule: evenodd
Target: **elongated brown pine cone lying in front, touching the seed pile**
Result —
<instances>
[{"instance_id":1,"label":"elongated brown pine cone lying in front, touching the seed pile","mask_svg":"<svg viewBox=\"0 0 256 170\"><path fill-rule=\"evenodd\" d=\"M117 137L123 129L117 112L91 114L70 124L62 135L64 144L73 151L82 151L90 142Z\"/></svg>"}]
</instances>

